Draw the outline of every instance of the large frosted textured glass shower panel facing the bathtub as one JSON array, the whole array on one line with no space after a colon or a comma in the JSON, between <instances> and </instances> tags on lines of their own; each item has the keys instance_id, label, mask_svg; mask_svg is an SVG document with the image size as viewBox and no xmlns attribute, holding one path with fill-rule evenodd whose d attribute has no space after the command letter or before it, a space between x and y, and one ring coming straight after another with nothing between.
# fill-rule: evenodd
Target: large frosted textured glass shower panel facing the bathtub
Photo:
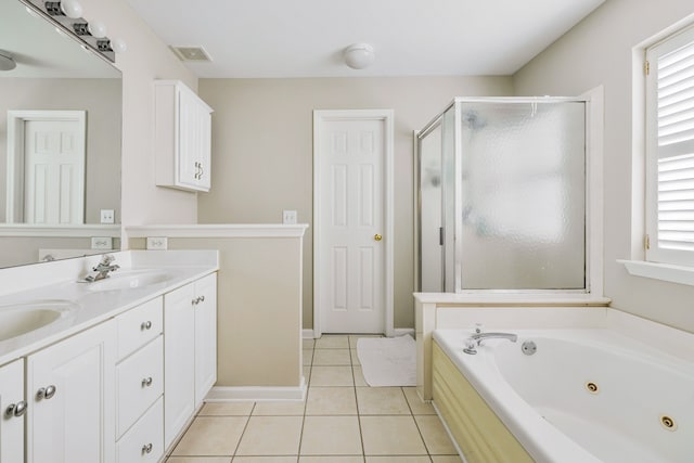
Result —
<instances>
[{"instance_id":1,"label":"large frosted textured glass shower panel facing the bathtub","mask_svg":"<svg viewBox=\"0 0 694 463\"><path fill-rule=\"evenodd\" d=\"M465 102L459 115L460 287L586 288L584 103Z\"/></svg>"}]
</instances>

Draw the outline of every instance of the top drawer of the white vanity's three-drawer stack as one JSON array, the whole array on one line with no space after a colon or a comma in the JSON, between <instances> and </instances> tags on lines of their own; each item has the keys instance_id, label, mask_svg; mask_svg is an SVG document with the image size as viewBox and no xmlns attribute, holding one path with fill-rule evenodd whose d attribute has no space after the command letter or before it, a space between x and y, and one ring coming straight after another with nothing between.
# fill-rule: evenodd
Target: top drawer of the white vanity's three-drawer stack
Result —
<instances>
[{"instance_id":1,"label":"top drawer of the white vanity's three-drawer stack","mask_svg":"<svg viewBox=\"0 0 694 463\"><path fill-rule=\"evenodd\" d=\"M118 351L117 358L123 359L140 346L162 334L162 297L128 310L116 317L118 324Z\"/></svg>"}]
</instances>

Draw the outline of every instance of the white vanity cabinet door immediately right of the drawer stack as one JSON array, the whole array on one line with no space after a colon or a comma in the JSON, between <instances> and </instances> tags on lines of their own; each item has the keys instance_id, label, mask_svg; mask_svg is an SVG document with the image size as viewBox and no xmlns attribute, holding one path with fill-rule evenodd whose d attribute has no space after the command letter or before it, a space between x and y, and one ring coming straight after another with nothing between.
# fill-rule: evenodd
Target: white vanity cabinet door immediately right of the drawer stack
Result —
<instances>
[{"instance_id":1,"label":"white vanity cabinet door immediately right of the drawer stack","mask_svg":"<svg viewBox=\"0 0 694 463\"><path fill-rule=\"evenodd\" d=\"M193 284L164 295L164 448L195 411Z\"/></svg>"}]
</instances>

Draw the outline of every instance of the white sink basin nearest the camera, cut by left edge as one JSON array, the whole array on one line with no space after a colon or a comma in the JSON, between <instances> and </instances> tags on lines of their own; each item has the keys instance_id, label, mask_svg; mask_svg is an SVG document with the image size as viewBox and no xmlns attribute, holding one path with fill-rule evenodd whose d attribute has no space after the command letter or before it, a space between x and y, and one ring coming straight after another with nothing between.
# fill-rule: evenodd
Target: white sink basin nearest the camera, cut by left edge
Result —
<instances>
[{"instance_id":1,"label":"white sink basin nearest the camera, cut by left edge","mask_svg":"<svg viewBox=\"0 0 694 463\"><path fill-rule=\"evenodd\" d=\"M57 321L67 310L77 308L69 300L36 300L0 307L0 340L21 336Z\"/></svg>"}]
</instances>

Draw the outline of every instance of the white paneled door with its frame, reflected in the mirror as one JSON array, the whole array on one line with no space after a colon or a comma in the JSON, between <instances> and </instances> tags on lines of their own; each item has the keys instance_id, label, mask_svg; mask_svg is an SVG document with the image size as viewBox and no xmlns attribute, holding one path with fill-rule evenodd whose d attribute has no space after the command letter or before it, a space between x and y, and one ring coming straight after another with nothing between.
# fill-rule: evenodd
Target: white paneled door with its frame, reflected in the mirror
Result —
<instances>
[{"instance_id":1,"label":"white paneled door with its frame, reflected in the mirror","mask_svg":"<svg viewBox=\"0 0 694 463\"><path fill-rule=\"evenodd\" d=\"M83 223L86 113L15 111L8 121L13 121L8 152L14 164L8 221Z\"/></svg>"}]
</instances>

